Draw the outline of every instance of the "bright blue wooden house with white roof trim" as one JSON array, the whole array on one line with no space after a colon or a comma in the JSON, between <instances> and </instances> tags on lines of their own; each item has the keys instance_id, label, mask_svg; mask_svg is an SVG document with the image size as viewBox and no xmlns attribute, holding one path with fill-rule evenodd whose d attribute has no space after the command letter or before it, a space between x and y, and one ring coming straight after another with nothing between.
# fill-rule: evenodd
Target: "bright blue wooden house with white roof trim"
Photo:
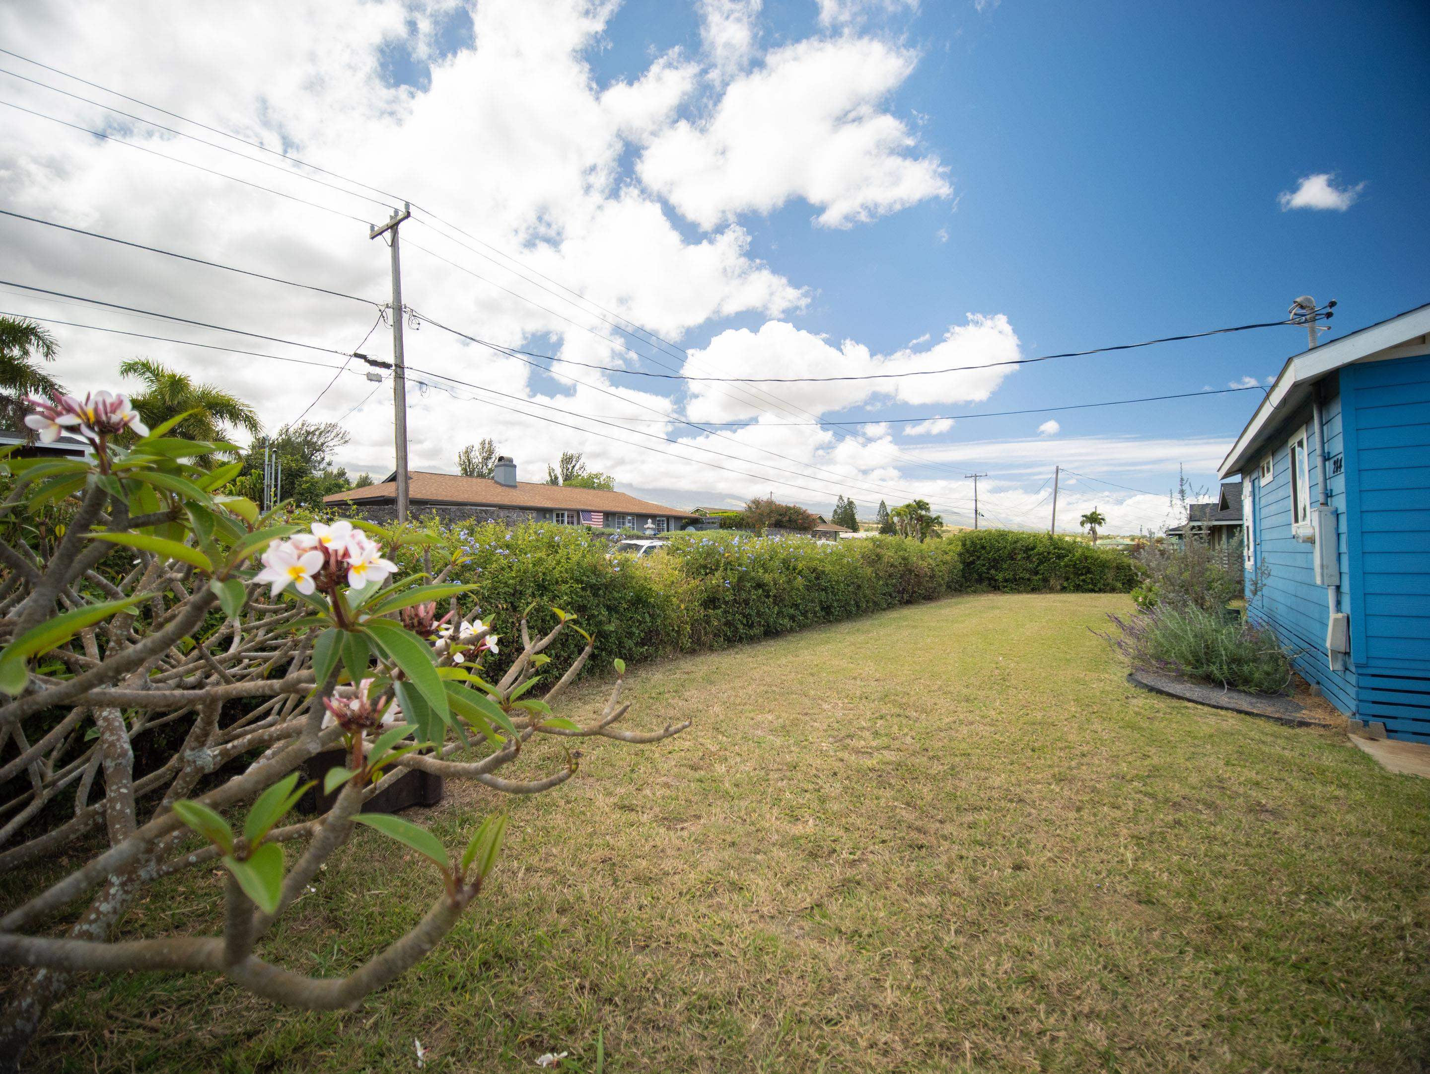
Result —
<instances>
[{"instance_id":1,"label":"bright blue wooden house with white roof trim","mask_svg":"<svg viewBox=\"0 0 1430 1074\"><path fill-rule=\"evenodd\" d=\"M1221 476L1250 618L1338 709L1430 742L1430 305L1287 360Z\"/></svg>"}]
</instances>

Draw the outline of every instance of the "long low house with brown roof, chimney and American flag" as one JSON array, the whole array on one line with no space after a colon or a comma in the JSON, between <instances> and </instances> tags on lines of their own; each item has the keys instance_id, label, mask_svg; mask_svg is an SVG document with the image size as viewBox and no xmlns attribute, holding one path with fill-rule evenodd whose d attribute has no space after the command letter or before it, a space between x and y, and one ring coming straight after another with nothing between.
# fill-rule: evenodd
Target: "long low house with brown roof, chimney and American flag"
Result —
<instances>
[{"instance_id":1,"label":"long low house with brown roof, chimney and American flag","mask_svg":"<svg viewBox=\"0 0 1430 1074\"><path fill-rule=\"evenodd\" d=\"M408 505L413 516L436 513L446 519L529 519L568 526L635 529L642 533L668 533L695 522L695 515L688 511L651 503L625 492L516 481L516 463L505 455L496 460L495 478L412 471L408 479ZM396 496L393 473L378 485L335 492L325 496L323 503L383 522L396 511Z\"/></svg>"}]
</instances>

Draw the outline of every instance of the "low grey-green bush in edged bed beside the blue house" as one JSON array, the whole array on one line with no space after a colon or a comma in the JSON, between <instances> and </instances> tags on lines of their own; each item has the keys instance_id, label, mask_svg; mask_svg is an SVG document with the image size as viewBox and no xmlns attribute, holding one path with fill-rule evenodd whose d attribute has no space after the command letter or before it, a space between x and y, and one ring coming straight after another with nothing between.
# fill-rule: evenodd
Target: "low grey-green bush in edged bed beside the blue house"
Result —
<instances>
[{"instance_id":1,"label":"low grey-green bush in edged bed beside the blue house","mask_svg":"<svg viewBox=\"0 0 1430 1074\"><path fill-rule=\"evenodd\" d=\"M1270 631L1194 603L1158 603L1121 619L1110 641L1134 666L1167 671L1253 694L1284 694L1291 658Z\"/></svg>"}]
</instances>

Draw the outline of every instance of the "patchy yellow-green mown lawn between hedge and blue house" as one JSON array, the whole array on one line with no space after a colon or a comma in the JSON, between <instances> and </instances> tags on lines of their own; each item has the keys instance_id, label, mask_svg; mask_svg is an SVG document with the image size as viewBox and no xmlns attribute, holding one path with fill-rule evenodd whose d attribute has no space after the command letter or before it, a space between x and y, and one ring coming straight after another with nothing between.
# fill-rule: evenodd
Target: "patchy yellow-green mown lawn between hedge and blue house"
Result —
<instances>
[{"instance_id":1,"label":"patchy yellow-green mown lawn between hedge and blue house","mask_svg":"<svg viewBox=\"0 0 1430 1074\"><path fill-rule=\"evenodd\" d=\"M1128 606L955 598L638 669L628 725L695 726L502 799L489 894L360 1010L94 981L36 1065L412 1071L418 1037L429 1071L589 1071L602 1031L608 1071L662 1074L1423 1070L1430 782L1131 688L1088 629ZM212 928L217 890L127 931ZM345 972L436 891L360 832L266 954Z\"/></svg>"}]
</instances>

